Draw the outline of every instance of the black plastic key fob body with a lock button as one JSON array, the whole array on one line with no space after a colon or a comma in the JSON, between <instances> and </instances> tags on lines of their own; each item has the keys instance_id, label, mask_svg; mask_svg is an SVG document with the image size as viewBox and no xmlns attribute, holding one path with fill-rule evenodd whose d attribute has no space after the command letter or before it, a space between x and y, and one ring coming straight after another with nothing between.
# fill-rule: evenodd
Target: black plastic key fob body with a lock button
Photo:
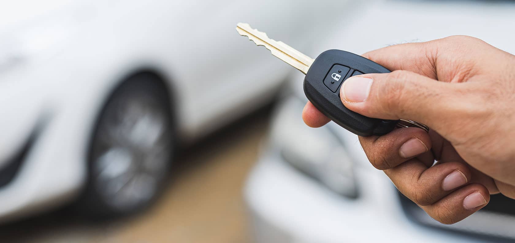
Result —
<instances>
[{"instance_id":1,"label":"black plastic key fob body with a lock button","mask_svg":"<svg viewBox=\"0 0 515 243\"><path fill-rule=\"evenodd\" d=\"M340 100L340 88L347 78L365 73L389 73L390 70L354 53L329 50L321 53L304 78L307 99L325 116L359 136L384 135L399 120L365 117L347 109Z\"/></svg>"}]
</instances>

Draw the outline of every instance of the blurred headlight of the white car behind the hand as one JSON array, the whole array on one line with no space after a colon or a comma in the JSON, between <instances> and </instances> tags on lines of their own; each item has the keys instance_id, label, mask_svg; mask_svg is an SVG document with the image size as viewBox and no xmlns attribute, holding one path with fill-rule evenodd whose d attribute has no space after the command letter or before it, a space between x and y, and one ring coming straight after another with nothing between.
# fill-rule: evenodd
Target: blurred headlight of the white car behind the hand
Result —
<instances>
[{"instance_id":1,"label":"blurred headlight of the white car behind the hand","mask_svg":"<svg viewBox=\"0 0 515 243\"><path fill-rule=\"evenodd\" d=\"M352 158L327 126L315 129L304 124L300 118L302 107L295 98L280 105L272 122L272 148L278 149L291 166L331 190L357 197Z\"/></svg>"}]
</instances>

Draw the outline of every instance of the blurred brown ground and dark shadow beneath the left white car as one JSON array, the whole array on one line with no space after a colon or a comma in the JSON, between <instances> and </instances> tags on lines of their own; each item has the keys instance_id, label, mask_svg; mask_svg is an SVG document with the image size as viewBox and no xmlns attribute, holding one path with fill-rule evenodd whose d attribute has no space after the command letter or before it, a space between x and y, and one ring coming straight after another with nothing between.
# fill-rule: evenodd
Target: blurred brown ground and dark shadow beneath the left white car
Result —
<instances>
[{"instance_id":1,"label":"blurred brown ground and dark shadow beneath the left white car","mask_svg":"<svg viewBox=\"0 0 515 243\"><path fill-rule=\"evenodd\" d=\"M58 210L0 226L0 242L247 242L242 189L266 134L264 109L187 149L164 196L129 219Z\"/></svg>"}]
</instances>

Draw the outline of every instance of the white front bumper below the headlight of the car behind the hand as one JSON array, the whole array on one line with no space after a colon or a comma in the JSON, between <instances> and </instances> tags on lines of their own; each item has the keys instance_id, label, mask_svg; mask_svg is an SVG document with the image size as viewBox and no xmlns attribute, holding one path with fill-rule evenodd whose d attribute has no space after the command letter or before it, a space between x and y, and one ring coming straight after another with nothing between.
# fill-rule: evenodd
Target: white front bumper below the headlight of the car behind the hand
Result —
<instances>
[{"instance_id":1,"label":"white front bumper below the headlight of the car behind the hand","mask_svg":"<svg viewBox=\"0 0 515 243\"><path fill-rule=\"evenodd\" d=\"M411 222L380 171L355 172L368 190L348 199L264 155L245 188L256 242L473 242Z\"/></svg>"}]
</instances>

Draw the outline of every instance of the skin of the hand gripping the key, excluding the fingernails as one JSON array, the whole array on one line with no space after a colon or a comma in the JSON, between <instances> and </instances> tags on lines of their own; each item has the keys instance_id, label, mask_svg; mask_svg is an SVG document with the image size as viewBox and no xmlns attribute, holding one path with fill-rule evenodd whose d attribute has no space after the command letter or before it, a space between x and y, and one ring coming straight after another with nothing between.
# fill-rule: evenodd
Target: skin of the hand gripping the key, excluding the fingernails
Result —
<instances>
[{"instance_id":1,"label":"skin of the hand gripping the key, excluding the fingernails","mask_svg":"<svg viewBox=\"0 0 515 243\"><path fill-rule=\"evenodd\" d=\"M375 168L445 224L475 213L490 194L515 199L515 56L468 36L393 45L363 56L394 71L357 76L371 78L359 79L371 82L364 101L356 102L359 96L348 92L352 83L347 79L340 90L342 103L368 117L409 119L431 128L428 134L409 127L359 137ZM310 102L302 117L311 127L330 121ZM425 148L405 158L401 147L414 138L411 144L422 142ZM461 179L465 184L443 186L456 170L466 177ZM485 204L467 208L466 198L473 193Z\"/></svg>"}]
</instances>

